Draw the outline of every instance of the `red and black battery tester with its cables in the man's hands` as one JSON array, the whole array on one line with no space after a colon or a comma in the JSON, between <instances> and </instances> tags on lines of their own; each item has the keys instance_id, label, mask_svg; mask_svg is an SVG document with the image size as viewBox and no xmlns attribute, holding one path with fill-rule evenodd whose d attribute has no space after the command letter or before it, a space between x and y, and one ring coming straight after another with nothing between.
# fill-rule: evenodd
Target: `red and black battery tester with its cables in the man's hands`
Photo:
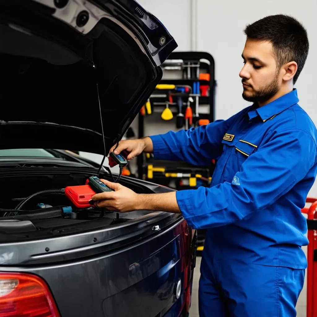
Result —
<instances>
[{"instance_id":1,"label":"red and black battery tester with its cables in the man's hands","mask_svg":"<svg viewBox=\"0 0 317 317\"><path fill-rule=\"evenodd\" d=\"M100 170L101 170L101 167L105 161L107 153L106 153L105 138L104 138L104 132L103 132L103 126L102 126L102 115L101 115L101 106L100 106L100 99L99 99L98 84L97 84L97 94L98 94L98 100L99 100L102 139L103 139L103 145L104 145L105 152L104 152L104 157L100 163L97 176L89 177L87 179L85 185L67 186L65 188L65 196L68 197L68 199L77 208L91 207L91 205L93 204L91 201L91 197L93 197L97 193L102 193L105 191L114 191L112 188L110 188L106 184L104 184L99 178ZM116 143L117 144L116 144L115 149L118 147L119 142L116 142ZM107 171L109 172L109 174L111 175L111 177L113 178L114 182L117 182L120 179L123 167L128 164L127 159L124 157L125 153L126 152L123 152L123 154L115 154L113 152L110 152L110 154L109 154L109 166L113 167L115 165L119 165L119 170L120 170L118 178L116 180L114 180L110 169L105 167L107 169Z\"/></svg>"}]
</instances>

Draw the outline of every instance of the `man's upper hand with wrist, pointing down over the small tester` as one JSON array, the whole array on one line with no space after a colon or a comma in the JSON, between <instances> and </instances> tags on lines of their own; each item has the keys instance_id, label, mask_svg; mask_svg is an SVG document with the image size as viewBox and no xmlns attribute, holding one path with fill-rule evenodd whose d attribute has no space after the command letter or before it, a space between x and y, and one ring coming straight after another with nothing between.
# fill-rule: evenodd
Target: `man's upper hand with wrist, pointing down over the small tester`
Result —
<instances>
[{"instance_id":1,"label":"man's upper hand with wrist, pointing down over the small tester","mask_svg":"<svg viewBox=\"0 0 317 317\"><path fill-rule=\"evenodd\" d=\"M115 146L110 149L110 152L113 152ZM118 147L114 151L114 154L120 154L122 151L128 151L130 154L127 156L128 160L131 160L141 154L143 151L146 153L153 152L152 140L149 137L144 139L136 140L123 140L119 142Z\"/></svg>"}]
</instances>

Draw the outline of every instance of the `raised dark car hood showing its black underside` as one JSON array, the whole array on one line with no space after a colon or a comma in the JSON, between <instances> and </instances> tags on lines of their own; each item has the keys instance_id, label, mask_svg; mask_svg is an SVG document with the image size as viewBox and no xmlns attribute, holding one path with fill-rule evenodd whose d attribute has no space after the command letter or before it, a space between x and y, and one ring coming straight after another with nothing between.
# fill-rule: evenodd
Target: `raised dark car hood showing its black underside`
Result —
<instances>
[{"instance_id":1,"label":"raised dark car hood showing its black underside","mask_svg":"<svg viewBox=\"0 0 317 317\"><path fill-rule=\"evenodd\" d=\"M0 42L0 148L100 154L99 101L108 152L177 47L133 0L2 0Z\"/></svg>"}]
</instances>

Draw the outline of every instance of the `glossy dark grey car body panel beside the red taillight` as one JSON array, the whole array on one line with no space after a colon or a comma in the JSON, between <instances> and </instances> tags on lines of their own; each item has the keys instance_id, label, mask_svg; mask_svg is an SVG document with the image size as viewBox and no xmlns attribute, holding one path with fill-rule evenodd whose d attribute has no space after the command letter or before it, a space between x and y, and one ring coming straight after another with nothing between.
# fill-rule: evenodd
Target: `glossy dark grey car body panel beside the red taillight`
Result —
<instances>
[{"instance_id":1,"label":"glossy dark grey car body panel beside the red taillight","mask_svg":"<svg viewBox=\"0 0 317 317\"><path fill-rule=\"evenodd\" d=\"M0 270L42 277L62 317L164 316L177 301L176 284L181 279L181 297L173 312L179 316L193 269L191 238L181 218L154 237L111 253Z\"/></svg>"}]
</instances>

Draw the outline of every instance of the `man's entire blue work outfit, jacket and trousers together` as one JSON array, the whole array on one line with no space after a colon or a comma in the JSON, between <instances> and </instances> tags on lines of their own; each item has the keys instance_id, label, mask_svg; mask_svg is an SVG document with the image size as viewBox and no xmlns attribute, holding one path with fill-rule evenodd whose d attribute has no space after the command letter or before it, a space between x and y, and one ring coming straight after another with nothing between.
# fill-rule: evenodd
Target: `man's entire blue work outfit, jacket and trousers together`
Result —
<instances>
[{"instance_id":1,"label":"man's entire blue work outfit, jacket and trousers together","mask_svg":"<svg viewBox=\"0 0 317 317\"><path fill-rule=\"evenodd\" d=\"M297 90L187 131L151 136L154 158L210 165L210 188L176 192L188 224L207 229L201 317L292 317L303 288L317 131Z\"/></svg>"}]
</instances>

